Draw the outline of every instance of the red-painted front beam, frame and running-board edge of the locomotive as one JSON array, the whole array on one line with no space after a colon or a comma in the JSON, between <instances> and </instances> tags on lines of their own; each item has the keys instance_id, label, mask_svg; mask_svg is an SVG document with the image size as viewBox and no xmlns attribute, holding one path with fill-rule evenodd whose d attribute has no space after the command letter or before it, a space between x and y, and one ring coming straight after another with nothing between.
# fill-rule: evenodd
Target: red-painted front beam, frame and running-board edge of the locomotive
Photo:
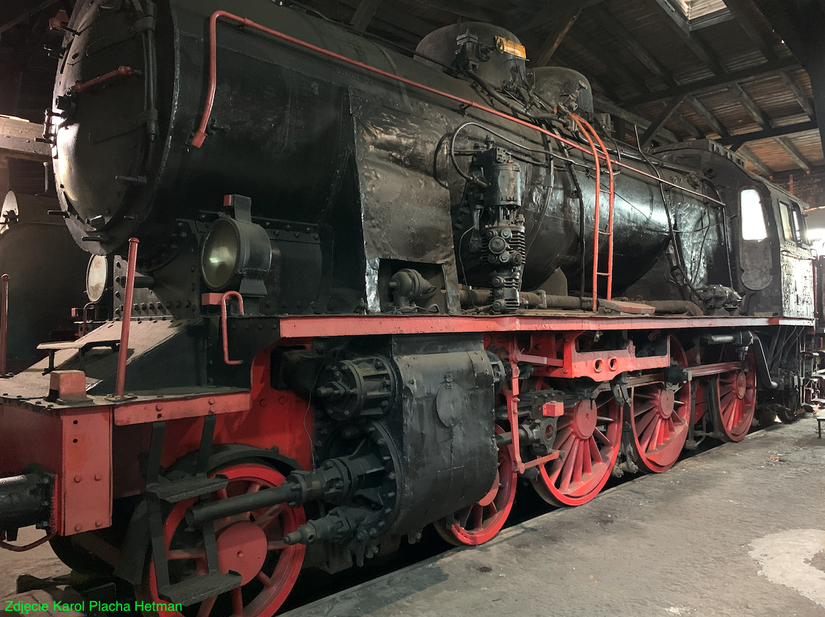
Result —
<instances>
[{"instance_id":1,"label":"red-painted front beam, frame and running-board edge of the locomotive","mask_svg":"<svg viewBox=\"0 0 825 617\"><path fill-rule=\"evenodd\" d=\"M230 317L250 319L254 317ZM376 336L442 332L482 333L485 345L502 348L513 378L503 389L513 434L516 469L544 464L556 453L522 461L518 443L518 362L535 365L544 377L590 377L608 382L624 371L652 370L670 363L665 356L635 356L632 343L624 350L582 351L577 339L596 330L651 331L666 336L681 329L813 326L813 321L785 318L682 318L512 315L465 316L305 316L278 320L281 339L261 351L250 366L249 390L210 390L180 396L111 400L94 397L76 407L27 401L7 395L0 404L0 431L15 436L0 449L0 475L20 473L40 464L57 476L50 525L60 535L72 535L111 525L112 500L144 491L139 455L148 450L151 423L167 421L161 464L171 465L200 446L203 418L215 415L214 444L239 444L270 449L312 466L314 413L308 398L271 386L271 351L276 346L309 346L314 337ZM596 363L601 362L601 370ZM697 367L696 376L729 370L730 363ZM48 383L44 385L44 396ZM549 414L559 412L548 408ZM76 441L75 441L76 440ZM42 444L54 447L41 447ZM113 456L113 452L117 456ZM75 478L80 478L75 481Z\"/></svg>"}]
</instances>

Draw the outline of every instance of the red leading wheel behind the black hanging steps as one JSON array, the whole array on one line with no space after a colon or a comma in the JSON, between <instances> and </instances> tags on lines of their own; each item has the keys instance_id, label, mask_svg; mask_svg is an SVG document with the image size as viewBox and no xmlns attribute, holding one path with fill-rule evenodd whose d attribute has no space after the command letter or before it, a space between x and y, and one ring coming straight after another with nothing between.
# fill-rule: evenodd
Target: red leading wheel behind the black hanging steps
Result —
<instances>
[{"instance_id":1,"label":"red leading wheel behind the black hanging steps","mask_svg":"<svg viewBox=\"0 0 825 617\"><path fill-rule=\"evenodd\" d=\"M279 486L284 476L276 469L257 463L233 464L215 473L229 478L229 486L213 493L212 499L226 499L262 488ZM166 517L163 542L172 584L203 576L207 572L203 535L186 525L186 510L196 502L177 502ZM221 572L241 575L241 586L186 606L186 617L271 617L284 603L295 585L304 563L303 544L287 546L284 536L306 522L303 508L285 504L263 507L214 521ZM150 562L144 583L135 590L137 599L167 604L158 595L154 562ZM145 611L144 611L145 612ZM161 617L181 615L174 610L158 610Z\"/></svg>"}]
</instances>

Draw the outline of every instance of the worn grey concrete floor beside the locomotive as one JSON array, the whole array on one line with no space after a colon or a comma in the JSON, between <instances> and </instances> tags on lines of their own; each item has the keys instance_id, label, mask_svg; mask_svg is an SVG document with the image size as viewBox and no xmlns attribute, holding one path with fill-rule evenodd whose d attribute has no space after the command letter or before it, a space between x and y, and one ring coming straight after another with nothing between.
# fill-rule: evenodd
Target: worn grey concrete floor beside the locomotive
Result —
<instances>
[{"instance_id":1,"label":"worn grey concrete floor beside the locomotive","mask_svg":"<svg viewBox=\"0 0 825 617\"><path fill-rule=\"evenodd\" d=\"M285 615L825 617L815 427L776 425ZM31 539L21 531L18 544ZM66 568L48 546L0 551L0 597L21 572Z\"/></svg>"}]
</instances>

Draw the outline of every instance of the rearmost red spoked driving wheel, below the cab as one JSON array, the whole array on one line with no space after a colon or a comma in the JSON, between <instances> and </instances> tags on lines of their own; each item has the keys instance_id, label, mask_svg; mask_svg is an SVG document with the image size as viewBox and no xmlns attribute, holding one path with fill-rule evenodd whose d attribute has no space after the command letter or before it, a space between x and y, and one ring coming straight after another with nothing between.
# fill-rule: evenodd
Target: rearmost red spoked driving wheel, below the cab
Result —
<instances>
[{"instance_id":1,"label":"rearmost red spoked driving wheel, below the cab","mask_svg":"<svg viewBox=\"0 0 825 617\"><path fill-rule=\"evenodd\" d=\"M733 351L726 347L720 362L737 360ZM716 426L729 441L742 441L750 431L753 413L757 409L757 371L753 351L745 358L747 368L719 374L715 379L714 420Z\"/></svg>"}]
</instances>

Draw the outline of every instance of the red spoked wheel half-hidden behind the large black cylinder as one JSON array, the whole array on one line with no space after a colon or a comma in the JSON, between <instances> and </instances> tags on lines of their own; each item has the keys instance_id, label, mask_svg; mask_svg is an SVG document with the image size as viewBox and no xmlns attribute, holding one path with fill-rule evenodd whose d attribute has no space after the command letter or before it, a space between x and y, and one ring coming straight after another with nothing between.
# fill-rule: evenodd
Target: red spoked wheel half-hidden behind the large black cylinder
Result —
<instances>
[{"instance_id":1,"label":"red spoked wheel half-hidden behind the large black cylinder","mask_svg":"<svg viewBox=\"0 0 825 617\"><path fill-rule=\"evenodd\" d=\"M496 426L496 435L505 432ZM502 530L516 498L516 466L512 445L498 449L498 469L493 487L478 502L456 513L458 519L450 527L444 520L433 523L442 538L450 544L475 546L493 539Z\"/></svg>"}]
</instances>

